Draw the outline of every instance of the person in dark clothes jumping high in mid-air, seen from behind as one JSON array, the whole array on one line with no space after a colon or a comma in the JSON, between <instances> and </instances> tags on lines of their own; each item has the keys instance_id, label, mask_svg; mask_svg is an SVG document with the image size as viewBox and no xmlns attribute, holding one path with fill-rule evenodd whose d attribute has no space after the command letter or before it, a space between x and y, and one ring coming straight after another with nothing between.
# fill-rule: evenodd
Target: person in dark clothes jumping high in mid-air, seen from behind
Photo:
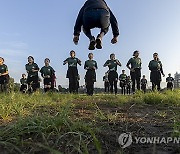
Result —
<instances>
[{"instance_id":1,"label":"person in dark clothes jumping high in mid-air, seen from behind","mask_svg":"<svg viewBox=\"0 0 180 154\"><path fill-rule=\"evenodd\" d=\"M85 35L89 38L89 50L102 49L102 38L108 32L109 26L112 27L113 39L112 44L117 43L119 36L118 22L110 8L104 0L87 0L81 8L74 26L75 44L78 44L81 27ZM95 37L91 34L91 29L100 28L100 34Z\"/></svg>"}]
</instances>

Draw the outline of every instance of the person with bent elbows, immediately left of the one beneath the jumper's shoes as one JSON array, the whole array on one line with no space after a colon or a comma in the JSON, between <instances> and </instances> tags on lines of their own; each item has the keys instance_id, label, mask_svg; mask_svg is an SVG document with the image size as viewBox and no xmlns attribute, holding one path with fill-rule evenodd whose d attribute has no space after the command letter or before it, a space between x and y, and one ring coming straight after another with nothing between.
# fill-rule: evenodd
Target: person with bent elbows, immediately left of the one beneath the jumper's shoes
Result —
<instances>
[{"instance_id":1,"label":"person with bent elbows, immediately left of the one beneath the jumper's shoes","mask_svg":"<svg viewBox=\"0 0 180 154\"><path fill-rule=\"evenodd\" d=\"M66 78L69 79L69 92L78 93L78 69L77 64L81 66L81 61L75 57L75 51L70 52L70 57L67 58L63 65L68 64Z\"/></svg>"}]
</instances>

